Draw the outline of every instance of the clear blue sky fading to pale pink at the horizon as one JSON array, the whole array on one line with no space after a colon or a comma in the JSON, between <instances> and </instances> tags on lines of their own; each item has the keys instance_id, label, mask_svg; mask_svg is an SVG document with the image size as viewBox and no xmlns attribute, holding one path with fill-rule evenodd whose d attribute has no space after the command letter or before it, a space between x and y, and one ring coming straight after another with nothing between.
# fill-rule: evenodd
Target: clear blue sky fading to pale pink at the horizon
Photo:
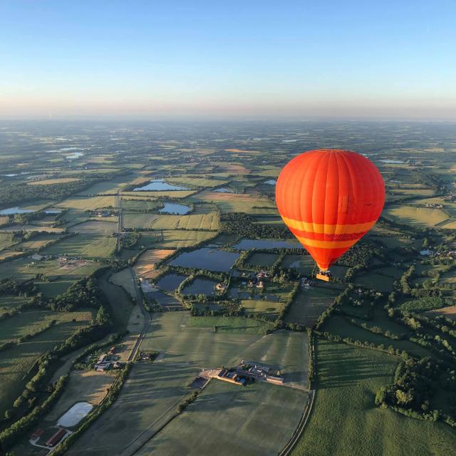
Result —
<instances>
[{"instance_id":1,"label":"clear blue sky fading to pale pink at the horizon","mask_svg":"<svg viewBox=\"0 0 456 456\"><path fill-rule=\"evenodd\" d=\"M0 115L456 118L455 1L0 1Z\"/></svg>"}]
</instances>

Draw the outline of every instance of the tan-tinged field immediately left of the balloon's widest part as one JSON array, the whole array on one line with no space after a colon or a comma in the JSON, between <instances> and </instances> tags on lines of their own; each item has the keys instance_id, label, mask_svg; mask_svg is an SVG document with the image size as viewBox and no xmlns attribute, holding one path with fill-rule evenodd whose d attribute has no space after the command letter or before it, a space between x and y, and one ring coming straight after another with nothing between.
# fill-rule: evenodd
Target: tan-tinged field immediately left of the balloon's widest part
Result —
<instances>
[{"instance_id":1,"label":"tan-tinged field immediately left of the balloon's widest part","mask_svg":"<svg viewBox=\"0 0 456 456\"><path fill-rule=\"evenodd\" d=\"M222 212L247 212L252 213L252 208L271 207L276 211L274 202L259 195L237 193L199 192L191 197L192 201L214 202ZM261 210L261 209L259 209Z\"/></svg>"}]
</instances>

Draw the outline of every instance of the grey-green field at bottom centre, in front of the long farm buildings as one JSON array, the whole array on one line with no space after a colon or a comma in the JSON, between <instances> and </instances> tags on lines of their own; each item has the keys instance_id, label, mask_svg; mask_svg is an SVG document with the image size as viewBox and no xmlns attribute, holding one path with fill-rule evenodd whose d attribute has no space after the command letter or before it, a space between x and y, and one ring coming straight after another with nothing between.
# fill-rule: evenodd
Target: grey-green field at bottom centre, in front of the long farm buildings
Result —
<instances>
[{"instance_id":1,"label":"grey-green field at bottom centre, in front of the long farm buildings","mask_svg":"<svg viewBox=\"0 0 456 456\"><path fill-rule=\"evenodd\" d=\"M212 380L199 398L136 455L277 455L301 418L307 393L266 383Z\"/></svg>"}]
</instances>

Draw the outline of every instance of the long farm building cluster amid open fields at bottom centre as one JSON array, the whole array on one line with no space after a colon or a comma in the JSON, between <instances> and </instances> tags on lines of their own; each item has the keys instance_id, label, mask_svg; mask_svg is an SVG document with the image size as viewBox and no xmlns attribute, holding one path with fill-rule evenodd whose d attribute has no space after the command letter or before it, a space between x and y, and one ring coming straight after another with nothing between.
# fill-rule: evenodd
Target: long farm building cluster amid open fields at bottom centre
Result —
<instances>
[{"instance_id":1,"label":"long farm building cluster amid open fields at bottom centre","mask_svg":"<svg viewBox=\"0 0 456 456\"><path fill-rule=\"evenodd\" d=\"M247 382L268 382L283 385L284 378L279 371L271 366L262 365L253 361L241 361L234 369L222 369L215 377L235 385L245 385Z\"/></svg>"}]
</instances>

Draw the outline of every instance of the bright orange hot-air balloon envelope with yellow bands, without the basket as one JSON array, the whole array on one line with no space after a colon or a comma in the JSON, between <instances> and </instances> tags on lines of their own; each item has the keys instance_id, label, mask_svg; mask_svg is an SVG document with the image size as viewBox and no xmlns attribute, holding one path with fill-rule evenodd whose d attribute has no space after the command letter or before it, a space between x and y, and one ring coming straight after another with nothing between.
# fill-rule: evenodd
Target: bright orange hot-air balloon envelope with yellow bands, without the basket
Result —
<instances>
[{"instance_id":1,"label":"bright orange hot-air balloon envelope with yellow bands, without the basket","mask_svg":"<svg viewBox=\"0 0 456 456\"><path fill-rule=\"evenodd\" d=\"M350 150L304 152L281 170L276 204L321 271L373 227L385 203L377 167Z\"/></svg>"}]
</instances>

